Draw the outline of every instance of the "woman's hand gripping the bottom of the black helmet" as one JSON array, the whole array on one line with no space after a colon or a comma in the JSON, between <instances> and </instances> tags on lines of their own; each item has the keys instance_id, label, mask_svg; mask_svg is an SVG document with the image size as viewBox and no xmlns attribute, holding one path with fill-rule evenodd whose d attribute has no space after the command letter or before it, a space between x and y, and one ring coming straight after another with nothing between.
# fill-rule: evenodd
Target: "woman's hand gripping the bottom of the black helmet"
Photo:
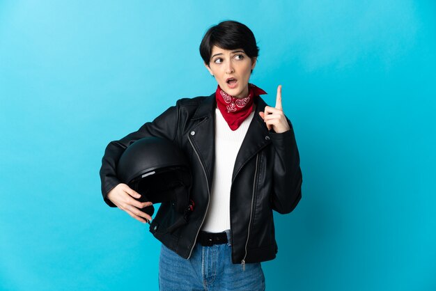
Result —
<instances>
[{"instance_id":1,"label":"woman's hand gripping the bottom of the black helmet","mask_svg":"<svg viewBox=\"0 0 436 291\"><path fill-rule=\"evenodd\" d=\"M148 202L139 202L138 200L141 197L137 191L134 191L126 184L120 183L111 189L107 194L107 198L112 201L120 210L124 210L134 219L137 219L143 223L148 223L151 221L150 215L142 212L141 209L143 207L147 207L152 205L150 201Z\"/></svg>"}]
</instances>

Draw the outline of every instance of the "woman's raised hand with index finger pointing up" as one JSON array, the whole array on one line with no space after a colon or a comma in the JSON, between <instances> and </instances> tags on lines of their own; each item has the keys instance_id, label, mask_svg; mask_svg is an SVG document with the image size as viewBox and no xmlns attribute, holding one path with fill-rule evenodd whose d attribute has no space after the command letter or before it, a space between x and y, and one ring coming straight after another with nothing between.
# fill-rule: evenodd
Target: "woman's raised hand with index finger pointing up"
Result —
<instances>
[{"instance_id":1,"label":"woman's raised hand with index finger pointing up","mask_svg":"<svg viewBox=\"0 0 436 291\"><path fill-rule=\"evenodd\" d=\"M259 115L265 121L268 130L273 129L277 134L281 134L290 129L281 107L281 85L277 87L276 107L266 106L265 111L260 111Z\"/></svg>"}]
</instances>

